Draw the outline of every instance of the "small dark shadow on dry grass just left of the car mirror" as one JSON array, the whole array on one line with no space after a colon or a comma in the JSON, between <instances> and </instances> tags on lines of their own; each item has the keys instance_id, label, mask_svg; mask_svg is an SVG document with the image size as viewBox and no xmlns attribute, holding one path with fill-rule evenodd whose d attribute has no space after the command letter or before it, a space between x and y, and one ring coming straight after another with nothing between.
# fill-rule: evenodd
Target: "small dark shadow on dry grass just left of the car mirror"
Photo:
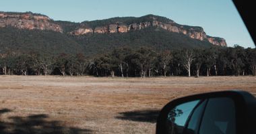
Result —
<instances>
[{"instance_id":1,"label":"small dark shadow on dry grass just left of the car mirror","mask_svg":"<svg viewBox=\"0 0 256 134\"><path fill-rule=\"evenodd\" d=\"M159 110L127 111L119 113L121 116L116 118L129 121L156 123L158 113L160 113Z\"/></svg>"}]
</instances>

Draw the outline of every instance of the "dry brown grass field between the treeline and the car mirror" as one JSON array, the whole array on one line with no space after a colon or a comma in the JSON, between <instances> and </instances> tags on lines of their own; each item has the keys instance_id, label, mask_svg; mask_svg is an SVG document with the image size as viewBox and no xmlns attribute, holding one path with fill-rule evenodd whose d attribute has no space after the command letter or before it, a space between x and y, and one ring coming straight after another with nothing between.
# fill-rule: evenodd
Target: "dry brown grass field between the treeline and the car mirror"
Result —
<instances>
[{"instance_id":1,"label":"dry brown grass field between the treeline and the car mirror","mask_svg":"<svg viewBox=\"0 0 256 134\"><path fill-rule=\"evenodd\" d=\"M174 98L241 89L256 77L0 76L0 133L154 133Z\"/></svg>"}]
</instances>

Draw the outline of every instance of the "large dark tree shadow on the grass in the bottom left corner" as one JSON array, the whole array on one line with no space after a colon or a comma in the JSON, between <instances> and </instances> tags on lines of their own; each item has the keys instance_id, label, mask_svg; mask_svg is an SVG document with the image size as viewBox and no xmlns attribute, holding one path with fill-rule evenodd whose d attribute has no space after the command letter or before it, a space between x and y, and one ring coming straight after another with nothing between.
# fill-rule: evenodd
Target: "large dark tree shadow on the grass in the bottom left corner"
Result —
<instances>
[{"instance_id":1,"label":"large dark tree shadow on the grass in the bottom left corner","mask_svg":"<svg viewBox=\"0 0 256 134\"><path fill-rule=\"evenodd\" d=\"M79 129L61 125L61 121L49 121L45 114L30 115L28 117L8 117L8 122L1 121L1 115L11 112L9 109L0 109L1 134L82 134L92 133L90 129Z\"/></svg>"}]
</instances>

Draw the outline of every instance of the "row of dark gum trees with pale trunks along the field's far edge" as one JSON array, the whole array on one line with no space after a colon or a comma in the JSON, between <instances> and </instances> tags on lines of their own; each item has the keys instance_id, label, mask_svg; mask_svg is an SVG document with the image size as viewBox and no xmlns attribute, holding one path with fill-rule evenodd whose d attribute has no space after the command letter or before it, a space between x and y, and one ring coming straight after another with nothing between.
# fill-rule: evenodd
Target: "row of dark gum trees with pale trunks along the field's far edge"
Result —
<instances>
[{"instance_id":1,"label":"row of dark gum trees with pale trunks along the field's far edge","mask_svg":"<svg viewBox=\"0 0 256 134\"><path fill-rule=\"evenodd\" d=\"M256 74L256 49L206 48L165 50L117 48L84 54L47 56L36 52L1 54L0 74L70 76L239 76Z\"/></svg>"}]
</instances>

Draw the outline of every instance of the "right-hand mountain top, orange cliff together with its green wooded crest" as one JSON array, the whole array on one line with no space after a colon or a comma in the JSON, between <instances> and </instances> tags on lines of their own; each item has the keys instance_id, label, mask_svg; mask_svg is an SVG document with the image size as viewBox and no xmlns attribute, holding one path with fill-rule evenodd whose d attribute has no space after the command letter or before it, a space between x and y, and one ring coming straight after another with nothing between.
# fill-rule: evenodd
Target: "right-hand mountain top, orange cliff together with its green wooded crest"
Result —
<instances>
[{"instance_id":1,"label":"right-hand mountain top, orange cliff together with its green wooded crest","mask_svg":"<svg viewBox=\"0 0 256 134\"><path fill-rule=\"evenodd\" d=\"M77 29L71 31L71 34L127 33L129 31L137 31L148 27L160 27L166 31L184 34L193 39L201 41L207 40L214 45L226 46L226 41L223 38L207 36L202 27L179 25L171 19L156 15L146 15L142 17L114 17L97 21L84 21L77 27Z\"/></svg>"}]
</instances>

